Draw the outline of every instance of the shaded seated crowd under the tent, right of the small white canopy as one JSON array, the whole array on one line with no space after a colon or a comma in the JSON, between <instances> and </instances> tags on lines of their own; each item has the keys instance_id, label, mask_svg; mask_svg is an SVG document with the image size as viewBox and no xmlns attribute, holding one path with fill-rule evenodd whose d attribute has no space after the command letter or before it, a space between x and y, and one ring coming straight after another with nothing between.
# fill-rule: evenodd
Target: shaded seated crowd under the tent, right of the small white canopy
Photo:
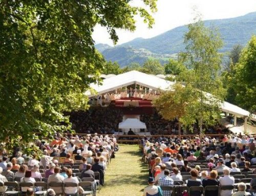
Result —
<instances>
[{"instance_id":1,"label":"shaded seated crowd under the tent, right of the small white canopy","mask_svg":"<svg viewBox=\"0 0 256 196\"><path fill-rule=\"evenodd\" d=\"M141 115L140 120L146 123L148 131L151 135L178 135L179 122L177 119L168 121L162 118L161 115L154 112L152 115ZM203 126L205 134L226 134L228 129L222 126L219 123L216 123L215 126ZM194 124L193 131L189 128L184 132L183 127L181 127L181 134L199 134L199 128L197 124Z\"/></svg>"}]
</instances>

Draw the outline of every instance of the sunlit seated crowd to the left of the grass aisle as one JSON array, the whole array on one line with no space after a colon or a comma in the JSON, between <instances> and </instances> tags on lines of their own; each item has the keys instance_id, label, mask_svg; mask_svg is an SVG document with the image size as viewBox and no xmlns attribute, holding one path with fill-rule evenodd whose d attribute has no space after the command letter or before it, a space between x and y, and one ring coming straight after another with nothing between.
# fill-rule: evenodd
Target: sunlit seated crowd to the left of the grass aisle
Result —
<instances>
[{"instance_id":1,"label":"sunlit seated crowd to the left of the grass aisle","mask_svg":"<svg viewBox=\"0 0 256 196\"><path fill-rule=\"evenodd\" d=\"M42 155L26 155L20 148L13 152L6 151L4 146L1 148L0 193L7 191L8 194L7 182L18 182L22 193L28 188L34 192L50 188L46 188L44 195L84 193L83 182L89 182L91 191L95 192L97 187L104 185L104 172L118 150L113 135L97 134L80 137L55 134L53 140L36 141L35 145ZM5 189L1 183L6 185ZM22 183L32 183L33 186L22 186ZM69 187L68 183L77 186Z\"/></svg>"}]
</instances>

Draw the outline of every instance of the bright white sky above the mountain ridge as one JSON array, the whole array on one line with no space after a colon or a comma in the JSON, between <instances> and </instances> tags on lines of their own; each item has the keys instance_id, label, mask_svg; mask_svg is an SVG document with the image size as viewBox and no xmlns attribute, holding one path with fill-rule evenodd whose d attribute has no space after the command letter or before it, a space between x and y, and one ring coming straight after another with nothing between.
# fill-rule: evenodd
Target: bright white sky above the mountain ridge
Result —
<instances>
[{"instance_id":1,"label":"bright white sky above the mountain ridge","mask_svg":"<svg viewBox=\"0 0 256 196\"><path fill-rule=\"evenodd\" d=\"M142 0L133 0L132 6L144 7ZM155 25L148 29L139 16L136 16L134 32L117 30L119 41L117 45L138 37L150 38L164 33L175 27L189 24L195 16L194 8L202 14L203 20L221 19L242 16L256 11L256 0L158 0ZM93 39L95 43L107 43L113 46L112 40L105 28L96 26Z\"/></svg>"}]
</instances>

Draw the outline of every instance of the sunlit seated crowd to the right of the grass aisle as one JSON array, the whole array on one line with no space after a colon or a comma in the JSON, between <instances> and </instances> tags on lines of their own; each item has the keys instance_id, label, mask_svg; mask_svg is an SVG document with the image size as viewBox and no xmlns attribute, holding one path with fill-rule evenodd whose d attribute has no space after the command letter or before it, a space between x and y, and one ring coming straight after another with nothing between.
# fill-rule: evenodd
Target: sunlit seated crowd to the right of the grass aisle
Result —
<instances>
[{"instance_id":1,"label":"sunlit seated crowd to the right of the grass aisle","mask_svg":"<svg viewBox=\"0 0 256 196\"><path fill-rule=\"evenodd\" d=\"M149 186L143 195L256 194L253 136L225 135L222 139L162 136L144 138L141 142L143 161L148 164L149 172Z\"/></svg>"}]
</instances>

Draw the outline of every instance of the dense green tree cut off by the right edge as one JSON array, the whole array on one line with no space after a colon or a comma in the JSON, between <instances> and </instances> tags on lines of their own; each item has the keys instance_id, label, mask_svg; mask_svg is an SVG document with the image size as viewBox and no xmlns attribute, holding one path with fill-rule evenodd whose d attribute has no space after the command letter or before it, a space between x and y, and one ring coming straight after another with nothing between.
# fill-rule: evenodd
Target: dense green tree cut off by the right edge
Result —
<instances>
[{"instance_id":1,"label":"dense green tree cut off by the right edge","mask_svg":"<svg viewBox=\"0 0 256 196\"><path fill-rule=\"evenodd\" d=\"M239 62L230 78L234 102L239 106L256 112L256 36L252 36L243 50Z\"/></svg>"}]
</instances>

